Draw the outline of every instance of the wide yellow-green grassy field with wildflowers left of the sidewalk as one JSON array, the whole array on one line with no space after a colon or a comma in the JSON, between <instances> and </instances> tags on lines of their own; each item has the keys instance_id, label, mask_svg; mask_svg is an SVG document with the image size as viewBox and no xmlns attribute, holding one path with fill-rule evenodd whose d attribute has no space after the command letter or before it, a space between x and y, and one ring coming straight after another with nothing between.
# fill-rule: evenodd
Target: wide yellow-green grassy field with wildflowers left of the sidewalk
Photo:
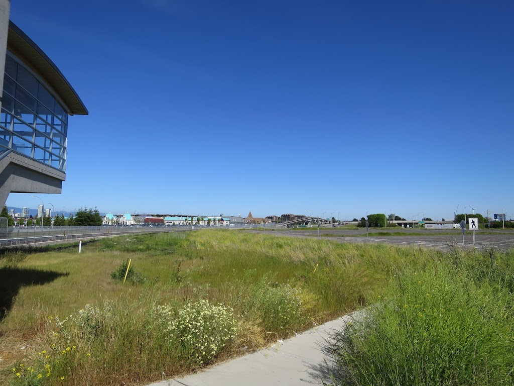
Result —
<instances>
[{"instance_id":1,"label":"wide yellow-green grassy field with wildflowers left of the sidewalk","mask_svg":"<svg viewBox=\"0 0 514 386\"><path fill-rule=\"evenodd\" d=\"M500 286L511 277L512 259L512 254L494 251L443 253L211 230L102 239L83 244L81 254L76 245L29 252L0 257L1 384L149 383L382 304L386 296L399 299L393 284L407 287L400 278L423 275L423 282L430 283L443 272L449 294L451 273L458 267L459 280ZM128 258L133 272L123 284L111 273L124 271L120 267ZM494 303L508 298L508 290L501 291L503 297L497 292L469 295ZM458 301L466 301L465 291L458 293ZM452 302L449 295L445 299ZM391 314L397 310L396 303L384 304L392 304ZM506 312L508 323L501 328L510 326L510 318ZM416 334L423 333L416 328ZM363 350L356 347L353 357ZM376 352L383 355L386 349L381 350ZM343 351L338 350L340 363L354 369L352 374L365 368ZM499 353L504 362L510 360Z\"/></svg>"}]
</instances>

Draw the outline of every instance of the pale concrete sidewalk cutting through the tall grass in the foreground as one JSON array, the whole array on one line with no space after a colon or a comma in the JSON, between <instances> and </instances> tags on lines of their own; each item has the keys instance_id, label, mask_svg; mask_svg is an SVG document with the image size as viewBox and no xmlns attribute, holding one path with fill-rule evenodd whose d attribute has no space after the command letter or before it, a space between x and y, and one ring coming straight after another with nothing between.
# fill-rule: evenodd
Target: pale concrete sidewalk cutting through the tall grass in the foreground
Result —
<instances>
[{"instance_id":1,"label":"pale concrete sidewalk cutting through the tall grass in the foreground","mask_svg":"<svg viewBox=\"0 0 514 386\"><path fill-rule=\"evenodd\" d=\"M149 386L262 386L331 384L335 369L323 349L335 330L351 315L312 328L296 337L276 342L253 354L233 359L201 373L152 383ZM323 382L322 382L323 381Z\"/></svg>"}]
</instances>

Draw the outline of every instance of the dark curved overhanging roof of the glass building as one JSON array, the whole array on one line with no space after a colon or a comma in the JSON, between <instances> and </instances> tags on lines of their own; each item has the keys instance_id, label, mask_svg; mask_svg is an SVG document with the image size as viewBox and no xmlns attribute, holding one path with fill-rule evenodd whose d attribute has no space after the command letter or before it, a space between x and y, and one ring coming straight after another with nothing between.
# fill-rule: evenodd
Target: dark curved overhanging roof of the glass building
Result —
<instances>
[{"instance_id":1,"label":"dark curved overhanging roof of the glass building","mask_svg":"<svg viewBox=\"0 0 514 386\"><path fill-rule=\"evenodd\" d=\"M7 45L12 47L15 53L23 55L33 69L40 73L45 81L57 92L62 101L69 109L70 115L87 115L84 103L75 92L71 84L66 80L59 68L46 56L45 52L38 47L18 26L9 21L9 33Z\"/></svg>"}]
</instances>

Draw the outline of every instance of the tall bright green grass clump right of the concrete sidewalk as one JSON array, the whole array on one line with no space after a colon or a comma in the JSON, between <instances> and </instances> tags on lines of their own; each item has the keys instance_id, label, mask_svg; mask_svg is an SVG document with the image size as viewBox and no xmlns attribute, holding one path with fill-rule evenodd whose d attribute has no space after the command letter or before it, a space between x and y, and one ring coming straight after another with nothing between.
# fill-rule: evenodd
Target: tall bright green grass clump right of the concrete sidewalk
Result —
<instances>
[{"instance_id":1,"label":"tall bright green grass clump right of the concrete sidewalk","mask_svg":"<svg viewBox=\"0 0 514 386\"><path fill-rule=\"evenodd\" d=\"M398 267L335 346L357 385L513 384L514 251ZM340 384L346 384L341 382Z\"/></svg>"}]
</instances>

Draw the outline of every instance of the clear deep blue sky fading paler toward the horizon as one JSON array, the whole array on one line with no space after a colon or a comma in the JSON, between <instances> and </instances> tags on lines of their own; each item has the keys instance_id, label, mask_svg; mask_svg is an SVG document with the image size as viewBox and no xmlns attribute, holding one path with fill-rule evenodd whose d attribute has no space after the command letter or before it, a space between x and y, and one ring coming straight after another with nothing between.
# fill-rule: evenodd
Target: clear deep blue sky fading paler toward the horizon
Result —
<instances>
[{"instance_id":1,"label":"clear deep blue sky fading paler toward the horizon","mask_svg":"<svg viewBox=\"0 0 514 386\"><path fill-rule=\"evenodd\" d=\"M89 110L56 210L514 218L514 2L13 0ZM36 207L29 194L9 206Z\"/></svg>"}]
</instances>

